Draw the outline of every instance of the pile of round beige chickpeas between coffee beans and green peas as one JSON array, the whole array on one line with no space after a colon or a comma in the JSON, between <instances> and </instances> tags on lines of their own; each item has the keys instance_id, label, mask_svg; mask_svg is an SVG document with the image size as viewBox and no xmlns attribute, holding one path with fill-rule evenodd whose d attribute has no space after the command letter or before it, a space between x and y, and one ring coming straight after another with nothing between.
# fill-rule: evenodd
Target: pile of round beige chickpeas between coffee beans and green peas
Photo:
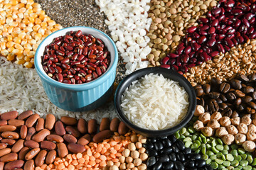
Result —
<instances>
[{"instance_id":1,"label":"pile of round beige chickpeas between coffee beans and green peas","mask_svg":"<svg viewBox=\"0 0 256 170\"><path fill-rule=\"evenodd\" d=\"M230 119L222 116L218 111L210 115L200 105L196 106L194 115L198 117L198 120L193 123L193 128L201 131L206 137L215 135L221 137L225 145L235 142L237 145L242 145L247 152L255 151L256 119L251 119L250 115Z\"/></svg>"}]
</instances>

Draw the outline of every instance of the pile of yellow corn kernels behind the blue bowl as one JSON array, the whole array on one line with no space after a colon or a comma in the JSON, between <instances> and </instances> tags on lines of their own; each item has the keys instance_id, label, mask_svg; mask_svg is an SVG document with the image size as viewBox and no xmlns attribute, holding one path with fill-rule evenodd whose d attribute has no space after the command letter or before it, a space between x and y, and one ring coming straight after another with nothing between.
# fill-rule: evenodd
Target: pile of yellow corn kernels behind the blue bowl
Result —
<instances>
[{"instance_id":1,"label":"pile of yellow corn kernels behind the blue bowl","mask_svg":"<svg viewBox=\"0 0 256 170\"><path fill-rule=\"evenodd\" d=\"M47 35L62 28L33 0L1 1L0 54L9 61L33 67L33 57Z\"/></svg>"}]
</instances>

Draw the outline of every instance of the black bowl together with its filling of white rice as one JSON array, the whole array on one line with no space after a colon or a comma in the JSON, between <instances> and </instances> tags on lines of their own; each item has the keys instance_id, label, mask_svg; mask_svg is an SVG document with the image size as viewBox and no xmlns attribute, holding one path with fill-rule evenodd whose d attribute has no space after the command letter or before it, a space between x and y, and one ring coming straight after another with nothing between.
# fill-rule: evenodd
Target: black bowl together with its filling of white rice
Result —
<instances>
[{"instance_id":1,"label":"black bowl together with its filling of white rice","mask_svg":"<svg viewBox=\"0 0 256 170\"><path fill-rule=\"evenodd\" d=\"M196 93L186 78L170 69L139 69L120 82L114 106L119 118L135 132L161 137L191 120Z\"/></svg>"}]
</instances>

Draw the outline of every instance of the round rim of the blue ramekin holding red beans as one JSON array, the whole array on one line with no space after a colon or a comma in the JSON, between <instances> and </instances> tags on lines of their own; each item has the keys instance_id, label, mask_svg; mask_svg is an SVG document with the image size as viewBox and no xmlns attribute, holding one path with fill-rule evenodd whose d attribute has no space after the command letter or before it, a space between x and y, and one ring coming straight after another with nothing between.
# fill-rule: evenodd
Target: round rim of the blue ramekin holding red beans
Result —
<instances>
[{"instance_id":1,"label":"round rim of the blue ramekin holding red beans","mask_svg":"<svg viewBox=\"0 0 256 170\"><path fill-rule=\"evenodd\" d=\"M114 48L114 60L112 61L112 63L110 63L110 66L107 71L102 74L102 76L98 77L97 79L84 83L84 84L64 84L61 83L59 81L56 81L52 78L50 78L47 74L44 74L44 70L41 69L41 67L39 67L39 64L41 64L41 56L40 54L38 54L39 49L43 46L43 42L46 42L49 38L54 37L57 38L58 33L67 33L70 30L73 29L80 29L83 30L84 29L88 29L88 30L95 30L97 33L102 34L105 38L107 38L107 40L109 40L109 42L111 43L112 47ZM75 30L76 31L76 30ZM61 35L62 36L62 35ZM48 44L50 44L51 42L49 42ZM106 42L105 42L106 44ZM108 79L108 77L110 76L110 74L112 74L112 72L114 71L115 67L117 67L117 62L118 62L118 52L117 52L117 47L114 44L114 41L106 34L103 33L101 30L97 30L96 28L91 28L91 27L86 27L86 26L73 26L73 27L67 27L67 28L63 28L60 30L56 30L54 33L51 33L50 35L48 35L45 39L43 39L43 41L40 43L40 45L38 45L38 49L36 50L36 54L35 54L35 68L36 68L36 72L38 73L38 75L41 77L41 79L43 79L44 81L47 81L48 84L52 85L52 86L56 86L58 88L61 89L68 89L68 90L73 90L73 91L83 91L83 90L87 90L87 89L92 89L95 86L99 86L100 84L102 84L104 81L106 81Z\"/></svg>"}]
</instances>

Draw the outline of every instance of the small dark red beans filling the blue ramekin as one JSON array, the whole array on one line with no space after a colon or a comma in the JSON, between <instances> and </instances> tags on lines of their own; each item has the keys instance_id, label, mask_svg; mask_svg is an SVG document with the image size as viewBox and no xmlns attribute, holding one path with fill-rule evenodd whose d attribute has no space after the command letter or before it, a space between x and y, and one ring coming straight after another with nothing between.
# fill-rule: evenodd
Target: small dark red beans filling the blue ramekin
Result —
<instances>
[{"instance_id":1,"label":"small dark red beans filling the blue ramekin","mask_svg":"<svg viewBox=\"0 0 256 170\"><path fill-rule=\"evenodd\" d=\"M49 77L65 84L82 84L97 79L110 65L104 42L81 30L55 38L42 56Z\"/></svg>"}]
</instances>

